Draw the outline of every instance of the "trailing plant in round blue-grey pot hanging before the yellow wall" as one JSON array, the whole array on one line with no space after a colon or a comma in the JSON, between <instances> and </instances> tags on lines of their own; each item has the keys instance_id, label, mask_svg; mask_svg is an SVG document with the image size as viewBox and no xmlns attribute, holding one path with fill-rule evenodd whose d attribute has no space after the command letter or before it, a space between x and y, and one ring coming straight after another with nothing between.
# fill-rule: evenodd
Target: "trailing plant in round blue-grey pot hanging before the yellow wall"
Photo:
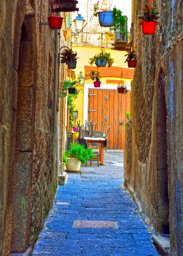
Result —
<instances>
[{"instance_id":1,"label":"trailing plant in round blue-grey pot hanging before the yellow wall","mask_svg":"<svg viewBox=\"0 0 183 256\"><path fill-rule=\"evenodd\" d=\"M104 48L101 48L101 51L93 56L93 58L89 58L88 63L92 66L94 63L97 67L111 67L114 63L114 59L110 57L110 52L106 52Z\"/></svg>"}]
</instances>

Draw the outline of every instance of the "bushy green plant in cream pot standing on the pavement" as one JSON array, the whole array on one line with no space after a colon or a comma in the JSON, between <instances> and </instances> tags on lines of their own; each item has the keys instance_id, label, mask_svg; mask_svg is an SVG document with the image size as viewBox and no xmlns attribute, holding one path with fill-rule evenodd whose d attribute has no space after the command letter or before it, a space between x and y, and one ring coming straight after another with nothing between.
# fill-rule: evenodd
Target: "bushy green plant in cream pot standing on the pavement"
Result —
<instances>
[{"instance_id":1,"label":"bushy green plant in cream pot standing on the pavement","mask_svg":"<svg viewBox=\"0 0 183 256\"><path fill-rule=\"evenodd\" d=\"M70 146L63 155L63 163L66 164L68 172L79 172L81 163L86 163L88 159L93 159L92 148L84 148L84 145L70 143Z\"/></svg>"}]
</instances>

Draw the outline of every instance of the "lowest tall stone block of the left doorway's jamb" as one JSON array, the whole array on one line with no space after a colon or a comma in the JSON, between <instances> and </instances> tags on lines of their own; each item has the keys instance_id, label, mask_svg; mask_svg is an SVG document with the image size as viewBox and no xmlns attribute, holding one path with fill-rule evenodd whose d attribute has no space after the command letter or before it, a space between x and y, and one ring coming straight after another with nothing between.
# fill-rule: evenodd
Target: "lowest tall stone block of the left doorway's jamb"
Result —
<instances>
[{"instance_id":1,"label":"lowest tall stone block of the left doorway's jamb","mask_svg":"<svg viewBox=\"0 0 183 256\"><path fill-rule=\"evenodd\" d=\"M15 155L15 193L13 194L12 252L24 252L28 247L30 223L30 199L32 183L32 153Z\"/></svg>"}]
</instances>

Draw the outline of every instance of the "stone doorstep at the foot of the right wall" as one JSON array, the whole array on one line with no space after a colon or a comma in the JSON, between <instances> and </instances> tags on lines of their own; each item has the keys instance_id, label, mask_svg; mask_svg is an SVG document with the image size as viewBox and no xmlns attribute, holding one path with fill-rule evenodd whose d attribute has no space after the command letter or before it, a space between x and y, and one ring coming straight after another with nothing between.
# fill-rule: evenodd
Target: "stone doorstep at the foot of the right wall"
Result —
<instances>
[{"instance_id":1,"label":"stone doorstep at the foot of the right wall","mask_svg":"<svg viewBox=\"0 0 183 256\"><path fill-rule=\"evenodd\" d=\"M170 250L170 237L162 235L153 235L152 240L161 256L168 256Z\"/></svg>"}]
</instances>

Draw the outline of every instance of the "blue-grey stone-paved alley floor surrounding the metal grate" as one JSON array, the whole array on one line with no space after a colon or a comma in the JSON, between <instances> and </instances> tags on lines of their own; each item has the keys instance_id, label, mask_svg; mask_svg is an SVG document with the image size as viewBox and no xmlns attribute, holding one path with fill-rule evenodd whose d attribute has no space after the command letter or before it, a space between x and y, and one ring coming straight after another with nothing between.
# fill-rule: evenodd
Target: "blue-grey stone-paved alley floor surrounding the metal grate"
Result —
<instances>
[{"instance_id":1,"label":"blue-grey stone-paved alley floor surrounding the metal grate","mask_svg":"<svg viewBox=\"0 0 183 256\"><path fill-rule=\"evenodd\" d=\"M122 151L105 152L105 166L68 173L32 255L159 255L122 182ZM117 228L74 228L74 220L116 221Z\"/></svg>"}]
</instances>

